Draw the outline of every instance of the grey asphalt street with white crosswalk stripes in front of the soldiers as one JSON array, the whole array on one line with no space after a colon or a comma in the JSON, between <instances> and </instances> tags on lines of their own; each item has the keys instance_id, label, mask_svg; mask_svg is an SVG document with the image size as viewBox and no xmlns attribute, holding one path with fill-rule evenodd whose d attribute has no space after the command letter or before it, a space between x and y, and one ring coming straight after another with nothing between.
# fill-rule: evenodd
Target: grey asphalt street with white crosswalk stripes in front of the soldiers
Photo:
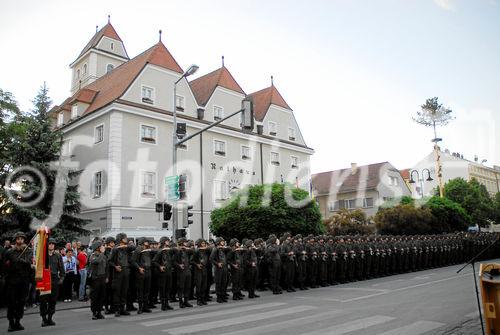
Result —
<instances>
[{"instance_id":1,"label":"grey asphalt street with white crosswalk stripes in front of the soldiers","mask_svg":"<svg viewBox=\"0 0 500 335\"><path fill-rule=\"evenodd\" d=\"M471 269L446 267L227 304L171 312L90 320L88 309L60 311L56 327L41 328L37 315L23 320L28 334L375 334L449 333L474 326ZM177 306L175 306L177 307ZM0 319L0 329L7 329ZM479 329L473 327L473 329ZM455 329L453 333L458 333ZM470 331L463 332L471 334Z\"/></svg>"}]
</instances>

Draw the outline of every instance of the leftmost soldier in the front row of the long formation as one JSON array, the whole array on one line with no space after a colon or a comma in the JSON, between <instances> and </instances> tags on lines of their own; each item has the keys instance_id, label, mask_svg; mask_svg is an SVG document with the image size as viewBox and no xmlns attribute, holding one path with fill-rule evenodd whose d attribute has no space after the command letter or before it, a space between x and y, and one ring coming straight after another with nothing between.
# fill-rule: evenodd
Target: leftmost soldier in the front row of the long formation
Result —
<instances>
[{"instance_id":1,"label":"leftmost soldier in the front row of the long formation","mask_svg":"<svg viewBox=\"0 0 500 335\"><path fill-rule=\"evenodd\" d=\"M108 280L108 260L104 252L106 248L102 242L95 242L92 245L94 252L90 255L90 309L92 320L104 319L102 306L104 304L106 281Z\"/></svg>"}]
</instances>

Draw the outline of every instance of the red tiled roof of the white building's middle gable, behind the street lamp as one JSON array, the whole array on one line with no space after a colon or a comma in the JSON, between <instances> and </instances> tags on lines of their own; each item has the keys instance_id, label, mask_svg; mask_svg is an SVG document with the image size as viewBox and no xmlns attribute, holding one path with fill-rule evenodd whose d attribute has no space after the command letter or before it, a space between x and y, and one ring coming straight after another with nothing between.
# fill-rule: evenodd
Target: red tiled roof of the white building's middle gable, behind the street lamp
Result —
<instances>
[{"instance_id":1,"label":"red tiled roof of the white building's middle gable, behind the street lamp","mask_svg":"<svg viewBox=\"0 0 500 335\"><path fill-rule=\"evenodd\" d=\"M217 86L245 95L241 86L236 82L231 72L229 72L225 66L194 79L189 85L200 106L205 106L207 104Z\"/></svg>"}]
</instances>

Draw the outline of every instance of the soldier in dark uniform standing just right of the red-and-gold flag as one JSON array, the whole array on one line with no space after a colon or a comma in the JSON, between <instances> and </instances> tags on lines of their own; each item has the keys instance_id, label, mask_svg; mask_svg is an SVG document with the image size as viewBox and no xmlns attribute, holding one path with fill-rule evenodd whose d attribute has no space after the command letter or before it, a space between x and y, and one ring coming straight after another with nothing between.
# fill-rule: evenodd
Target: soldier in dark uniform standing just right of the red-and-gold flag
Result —
<instances>
[{"instance_id":1,"label":"soldier in dark uniform standing just right of the red-and-gold flag","mask_svg":"<svg viewBox=\"0 0 500 335\"><path fill-rule=\"evenodd\" d=\"M48 257L47 263L50 269L50 293L40 295L40 316L42 317L42 327L55 326L56 323L52 320L56 312L57 295L59 285L62 285L64 276L64 264L59 253L55 252L56 240L49 238L48 241Z\"/></svg>"}]
</instances>

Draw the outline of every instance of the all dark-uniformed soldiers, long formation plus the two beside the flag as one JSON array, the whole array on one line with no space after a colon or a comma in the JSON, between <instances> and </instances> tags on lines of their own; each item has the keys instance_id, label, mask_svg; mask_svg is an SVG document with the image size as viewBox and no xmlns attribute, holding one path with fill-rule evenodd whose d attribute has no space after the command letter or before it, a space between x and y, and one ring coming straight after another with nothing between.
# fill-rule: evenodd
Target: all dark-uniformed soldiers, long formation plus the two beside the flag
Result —
<instances>
[{"instance_id":1,"label":"all dark-uniformed soldiers, long formation plus the two beside the flag","mask_svg":"<svg viewBox=\"0 0 500 335\"><path fill-rule=\"evenodd\" d=\"M33 269L26 236L17 233L15 245L3 254L6 273L9 331L24 329L23 292ZM139 238L137 244L120 233L96 240L89 259L92 319L190 308L213 301L258 298L257 291L295 292L339 283L463 263L498 239L494 233L456 233L422 236L291 236L266 240L223 238L197 241L168 237ZM61 256L49 240L52 294L41 299L42 327L53 326L57 286L64 277ZM497 243L482 259L500 255ZM243 292L246 291L247 295ZM231 294L230 294L231 293ZM137 305L135 305L137 303Z\"/></svg>"}]
</instances>

